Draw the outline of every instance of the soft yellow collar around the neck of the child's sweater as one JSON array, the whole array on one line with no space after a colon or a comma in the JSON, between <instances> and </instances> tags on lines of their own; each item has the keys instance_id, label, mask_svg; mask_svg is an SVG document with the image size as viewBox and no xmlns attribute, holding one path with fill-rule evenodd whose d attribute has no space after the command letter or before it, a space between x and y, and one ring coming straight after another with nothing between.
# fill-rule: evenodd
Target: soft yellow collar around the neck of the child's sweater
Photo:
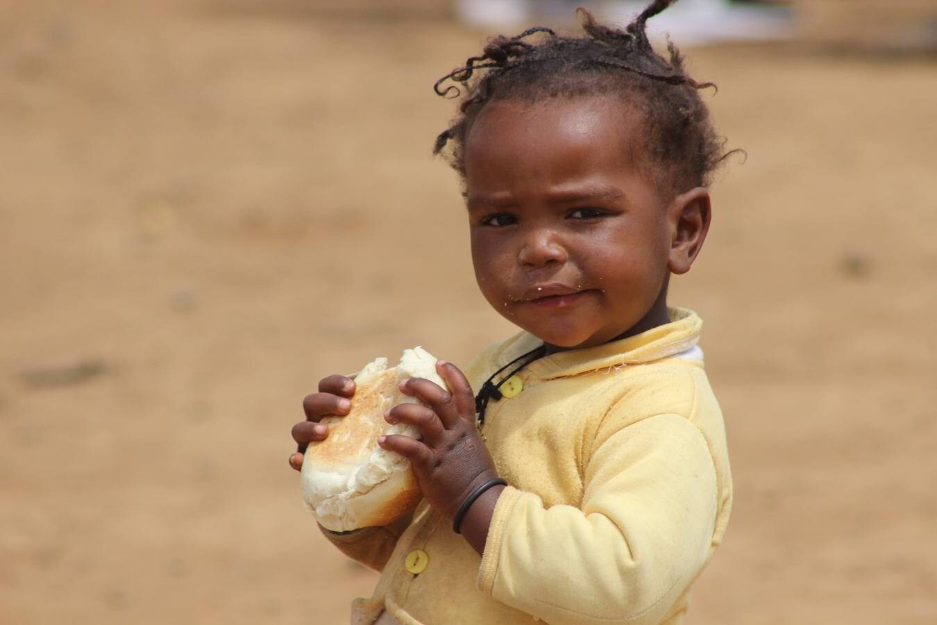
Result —
<instances>
[{"instance_id":1,"label":"soft yellow collar around the neck of the child's sweater","mask_svg":"<svg viewBox=\"0 0 937 625\"><path fill-rule=\"evenodd\" d=\"M670 323L592 348L558 351L534 361L527 369L539 378L554 379L621 365L641 365L691 349L699 340L703 320L686 308L671 307L667 312ZM515 335L501 351L499 364L504 365L542 344L541 339L527 332Z\"/></svg>"}]
</instances>

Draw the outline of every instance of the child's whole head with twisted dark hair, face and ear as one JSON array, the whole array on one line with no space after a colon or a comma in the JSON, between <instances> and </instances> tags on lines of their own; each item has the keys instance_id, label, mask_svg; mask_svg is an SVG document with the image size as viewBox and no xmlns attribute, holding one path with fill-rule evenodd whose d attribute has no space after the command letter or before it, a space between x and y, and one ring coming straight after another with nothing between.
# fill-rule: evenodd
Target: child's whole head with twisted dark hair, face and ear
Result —
<instances>
[{"instance_id":1,"label":"child's whole head with twisted dark hair, face and ear","mask_svg":"<svg viewBox=\"0 0 937 625\"><path fill-rule=\"evenodd\" d=\"M666 322L669 274L688 271L706 237L721 141L696 92L706 85L673 46L668 61L647 41L647 18L670 4L624 31L584 13L587 37L496 37L446 77L467 93L436 151L452 141L479 286L552 345Z\"/></svg>"}]
</instances>

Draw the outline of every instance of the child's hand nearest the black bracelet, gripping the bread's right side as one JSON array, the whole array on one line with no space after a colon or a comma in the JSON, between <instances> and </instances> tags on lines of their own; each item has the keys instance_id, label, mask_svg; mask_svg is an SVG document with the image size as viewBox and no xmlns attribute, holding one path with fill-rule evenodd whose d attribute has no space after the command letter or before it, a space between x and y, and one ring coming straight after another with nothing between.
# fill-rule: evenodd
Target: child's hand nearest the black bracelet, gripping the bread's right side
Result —
<instances>
[{"instance_id":1,"label":"child's hand nearest the black bracelet, gripping the bread's right side","mask_svg":"<svg viewBox=\"0 0 937 625\"><path fill-rule=\"evenodd\" d=\"M468 379L458 367L445 361L440 360L436 370L452 394L428 379L405 379L400 382L400 391L425 406L400 404L384 415L390 424L416 425L422 440L389 435L378 442L382 448L409 459L426 501L453 518L468 495L498 477L498 472L475 429L475 396Z\"/></svg>"}]
</instances>

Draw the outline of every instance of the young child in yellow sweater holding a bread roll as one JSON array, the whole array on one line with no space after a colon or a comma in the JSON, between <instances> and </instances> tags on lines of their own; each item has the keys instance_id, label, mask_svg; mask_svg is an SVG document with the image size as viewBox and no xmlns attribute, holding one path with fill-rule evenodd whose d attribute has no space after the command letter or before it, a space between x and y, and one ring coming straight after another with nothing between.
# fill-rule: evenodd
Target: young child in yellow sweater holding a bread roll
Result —
<instances>
[{"instance_id":1,"label":"young child in yellow sweater holding a bread roll","mask_svg":"<svg viewBox=\"0 0 937 625\"><path fill-rule=\"evenodd\" d=\"M443 79L467 90L436 152L454 148L478 285L524 332L465 375L439 361L451 393L401 383L422 405L386 419L422 438L379 444L409 458L424 501L389 526L323 530L382 572L353 623L683 622L732 482L702 322L666 303L706 239L722 157L706 85L647 41L670 4L625 30L584 12L585 37L496 37ZM354 388L331 376L305 398L300 451Z\"/></svg>"}]
</instances>

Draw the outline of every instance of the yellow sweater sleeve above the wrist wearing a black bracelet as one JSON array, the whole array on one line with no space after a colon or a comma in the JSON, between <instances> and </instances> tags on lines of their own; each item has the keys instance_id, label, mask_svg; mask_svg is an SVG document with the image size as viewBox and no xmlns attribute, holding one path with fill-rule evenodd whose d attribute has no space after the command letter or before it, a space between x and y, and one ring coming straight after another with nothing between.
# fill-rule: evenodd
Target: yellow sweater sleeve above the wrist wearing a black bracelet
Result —
<instances>
[{"instance_id":1,"label":"yellow sweater sleeve above the wrist wearing a black bracelet","mask_svg":"<svg viewBox=\"0 0 937 625\"><path fill-rule=\"evenodd\" d=\"M716 471L700 430L676 414L602 440L582 508L498 498L478 586L554 625L659 623L706 564Z\"/></svg>"}]
</instances>

